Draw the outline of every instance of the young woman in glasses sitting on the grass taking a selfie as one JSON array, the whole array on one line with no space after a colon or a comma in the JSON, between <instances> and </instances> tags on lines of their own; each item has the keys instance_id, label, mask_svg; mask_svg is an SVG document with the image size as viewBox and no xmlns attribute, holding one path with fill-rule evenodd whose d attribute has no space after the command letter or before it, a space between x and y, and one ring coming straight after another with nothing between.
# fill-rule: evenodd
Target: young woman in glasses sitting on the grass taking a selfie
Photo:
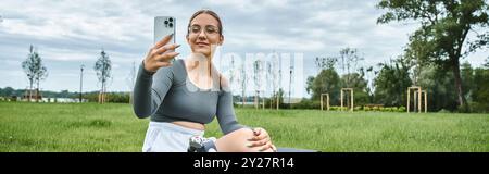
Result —
<instances>
[{"instance_id":1,"label":"young woman in glasses sitting on the grass taking a selfie","mask_svg":"<svg viewBox=\"0 0 489 174\"><path fill-rule=\"evenodd\" d=\"M150 116L142 151L187 151L189 139L204 134L217 117L224 136L212 141L220 152L276 151L268 133L238 124L228 82L213 66L215 47L224 42L216 13L197 11L189 21L187 44L191 55L172 62L179 45L166 36L142 61L134 88L134 111Z\"/></svg>"}]
</instances>

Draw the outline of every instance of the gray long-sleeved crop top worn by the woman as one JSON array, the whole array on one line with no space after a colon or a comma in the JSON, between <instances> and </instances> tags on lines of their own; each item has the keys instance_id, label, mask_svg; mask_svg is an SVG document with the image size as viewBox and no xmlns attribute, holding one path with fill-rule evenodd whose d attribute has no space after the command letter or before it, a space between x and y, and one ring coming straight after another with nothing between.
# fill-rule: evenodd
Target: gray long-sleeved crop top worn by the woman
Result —
<instances>
[{"instance_id":1,"label":"gray long-sleeved crop top worn by the woman","mask_svg":"<svg viewBox=\"0 0 489 174\"><path fill-rule=\"evenodd\" d=\"M221 130L231 133L244 126L238 124L233 108L233 95L227 87L200 89L187 78L184 60L160 67L154 74L139 66L133 91L134 112L139 119L151 116L154 122L188 121L208 124L217 116Z\"/></svg>"}]
</instances>

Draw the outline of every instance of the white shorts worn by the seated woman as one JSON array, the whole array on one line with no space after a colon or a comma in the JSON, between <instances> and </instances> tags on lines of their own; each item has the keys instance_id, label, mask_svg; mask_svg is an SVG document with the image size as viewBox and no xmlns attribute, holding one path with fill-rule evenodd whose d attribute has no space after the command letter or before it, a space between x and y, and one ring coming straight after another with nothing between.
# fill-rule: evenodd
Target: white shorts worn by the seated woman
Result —
<instances>
[{"instance_id":1,"label":"white shorts worn by the seated woman","mask_svg":"<svg viewBox=\"0 0 489 174\"><path fill-rule=\"evenodd\" d=\"M181 127L172 123L150 122L142 152L187 152L189 138L203 136L203 130Z\"/></svg>"}]
</instances>

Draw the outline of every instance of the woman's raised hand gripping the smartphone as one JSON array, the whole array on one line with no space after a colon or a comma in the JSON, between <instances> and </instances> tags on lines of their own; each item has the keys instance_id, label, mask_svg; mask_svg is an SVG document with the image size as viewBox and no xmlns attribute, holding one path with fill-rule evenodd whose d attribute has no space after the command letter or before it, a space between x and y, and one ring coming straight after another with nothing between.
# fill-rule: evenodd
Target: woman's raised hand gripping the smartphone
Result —
<instances>
[{"instance_id":1,"label":"woman's raised hand gripping the smartphone","mask_svg":"<svg viewBox=\"0 0 489 174\"><path fill-rule=\"evenodd\" d=\"M165 36L149 50L143 61L146 71L154 73L160 67L172 65L172 59L179 54L175 52L175 49L180 47L180 45L167 45L172 37L173 34Z\"/></svg>"}]
</instances>

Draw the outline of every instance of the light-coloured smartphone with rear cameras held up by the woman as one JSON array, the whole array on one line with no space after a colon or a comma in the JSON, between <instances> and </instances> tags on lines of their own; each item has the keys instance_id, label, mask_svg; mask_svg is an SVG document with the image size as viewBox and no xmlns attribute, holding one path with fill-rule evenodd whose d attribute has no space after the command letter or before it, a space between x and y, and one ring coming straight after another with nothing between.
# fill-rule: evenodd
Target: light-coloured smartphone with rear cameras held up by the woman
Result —
<instances>
[{"instance_id":1,"label":"light-coloured smartphone with rear cameras held up by the woman","mask_svg":"<svg viewBox=\"0 0 489 174\"><path fill-rule=\"evenodd\" d=\"M155 16L154 17L154 44L163 39L163 37L173 34L170 44L175 44L176 18L173 16Z\"/></svg>"}]
</instances>

